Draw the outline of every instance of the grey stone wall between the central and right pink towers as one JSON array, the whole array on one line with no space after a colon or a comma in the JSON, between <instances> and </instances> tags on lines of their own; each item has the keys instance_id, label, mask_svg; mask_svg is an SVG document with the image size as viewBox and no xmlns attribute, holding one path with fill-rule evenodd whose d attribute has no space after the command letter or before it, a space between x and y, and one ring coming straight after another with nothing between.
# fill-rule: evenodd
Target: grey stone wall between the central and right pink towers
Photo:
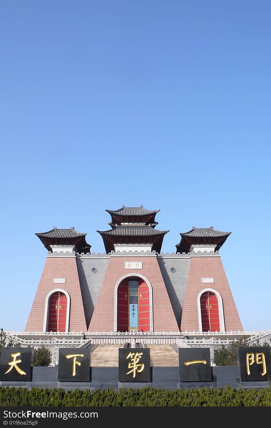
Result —
<instances>
[{"instance_id":1,"label":"grey stone wall between the central and right pink towers","mask_svg":"<svg viewBox=\"0 0 271 428\"><path fill-rule=\"evenodd\" d=\"M176 321L180 328L184 295L190 268L190 257L178 258L175 256L170 258L169 256L157 256L157 261L169 294ZM176 272L172 273L170 271L171 268L175 268Z\"/></svg>"}]
</instances>

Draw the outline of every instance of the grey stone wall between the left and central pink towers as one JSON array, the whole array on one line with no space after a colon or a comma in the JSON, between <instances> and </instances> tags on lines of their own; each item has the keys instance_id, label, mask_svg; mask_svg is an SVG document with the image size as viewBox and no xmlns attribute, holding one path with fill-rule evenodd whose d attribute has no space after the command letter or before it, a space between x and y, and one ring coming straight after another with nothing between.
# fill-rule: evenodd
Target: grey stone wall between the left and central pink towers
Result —
<instances>
[{"instance_id":1,"label":"grey stone wall between the left and central pink towers","mask_svg":"<svg viewBox=\"0 0 271 428\"><path fill-rule=\"evenodd\" d=\"M87 328L96 305L108 262L109 256L103 254L87 257L79 255L76 257ZM96 273L92 272L93 268L97 269Z\"/></svg>"}]
</instances>

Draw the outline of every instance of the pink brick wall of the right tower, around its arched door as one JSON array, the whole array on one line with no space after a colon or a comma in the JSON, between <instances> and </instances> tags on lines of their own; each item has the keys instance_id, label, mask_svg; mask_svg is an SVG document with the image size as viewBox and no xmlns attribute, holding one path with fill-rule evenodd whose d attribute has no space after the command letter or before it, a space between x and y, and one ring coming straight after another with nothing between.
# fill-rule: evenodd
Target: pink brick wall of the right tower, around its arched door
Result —
<instances>
[{"instance_id":1,"label":"pink brick wall of the right tower, around its arched door","mask_svg":"<svg viewBox=\"0 0 271 428\"><path fill-rule=\"evenodd\" d=\"M202 278L209 277L214 278L214 283L202 283ZM199 331L197 297L199 292L205 288L213 288L222 297L225 330L242 331L243 327L220 257L191 257L181 331Z\"/></svg>"}]
</instances>

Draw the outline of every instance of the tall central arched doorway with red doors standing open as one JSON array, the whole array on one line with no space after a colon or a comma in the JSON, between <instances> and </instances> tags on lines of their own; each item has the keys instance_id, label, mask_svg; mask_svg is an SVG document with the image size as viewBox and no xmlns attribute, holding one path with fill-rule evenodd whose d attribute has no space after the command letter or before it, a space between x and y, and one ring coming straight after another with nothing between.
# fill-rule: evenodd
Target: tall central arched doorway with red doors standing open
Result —
<instances>
[{"instance_id":1,"label":"tall central arched doorway with red doors standing open","mask_svg":"<svg viewBox=\"0 0 271 428\"><path fill-rule=\"evenodd\" d=\"M150 331L150 291L141 278L123 279L117 288L117 331Z\"/></svg>"}]
</instances>

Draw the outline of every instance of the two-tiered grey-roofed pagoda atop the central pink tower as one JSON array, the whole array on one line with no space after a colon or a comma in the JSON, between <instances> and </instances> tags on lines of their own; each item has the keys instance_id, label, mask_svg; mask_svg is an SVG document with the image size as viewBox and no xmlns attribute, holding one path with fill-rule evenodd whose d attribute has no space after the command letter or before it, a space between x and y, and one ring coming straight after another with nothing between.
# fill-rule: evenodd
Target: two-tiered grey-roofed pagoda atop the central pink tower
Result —
<instances>
[{"instance_id":1,"label":"two-tiered grey-roofed pagoda atop the central pink tower","mask_svg":"<svg viewBox=\"0 0 271 428\"><path fill-rule=\"evenodd\" d=\"M155 251L160 253L163 238L169 230L154 229L157 226L155 215L160 210L150 211L140 207L126 207L111 211L105 210L111 215L108 223L112 229L97 232L102 236L105 251L135 252Z\"/></svg>"}]
</instances>

